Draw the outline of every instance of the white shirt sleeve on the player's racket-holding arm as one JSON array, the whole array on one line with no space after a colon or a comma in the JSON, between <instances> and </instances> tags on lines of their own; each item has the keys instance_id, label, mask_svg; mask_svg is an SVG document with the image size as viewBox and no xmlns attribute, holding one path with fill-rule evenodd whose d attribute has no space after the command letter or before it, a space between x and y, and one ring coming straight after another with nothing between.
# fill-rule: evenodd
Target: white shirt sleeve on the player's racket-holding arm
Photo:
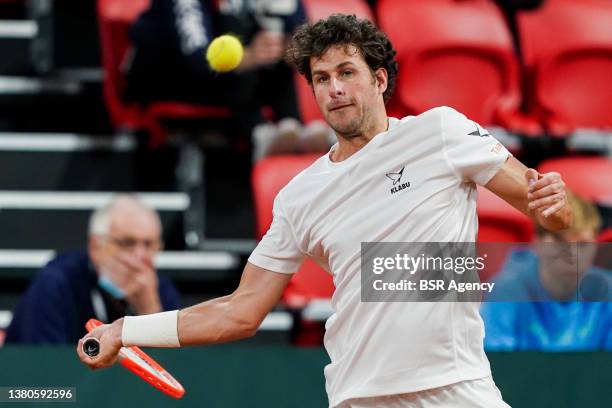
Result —
<instances>
[{"instance_id":1,"label":"white shirt sleeve on the player's racket-holding arm","mask_svg":"<svg viewBox=\"0 0 612 408\"><path fill-rule=\"evenodd\" d=\"M249 262L274 272L297 272L305 254L297 244L280 195L274 200L273 216L270 229L249 257Z\"/></svg>"}]
</instances>

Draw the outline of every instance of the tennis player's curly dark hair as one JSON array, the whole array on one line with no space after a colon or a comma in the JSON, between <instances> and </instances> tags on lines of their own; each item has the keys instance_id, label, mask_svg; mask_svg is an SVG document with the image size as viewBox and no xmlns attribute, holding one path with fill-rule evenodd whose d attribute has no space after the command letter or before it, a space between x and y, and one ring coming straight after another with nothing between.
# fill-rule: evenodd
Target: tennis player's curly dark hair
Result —
<instances>
[{"instance_id":1,"label":"tennis player's curly dark hair","mask_svg":"<svg viewBox=\"0 0 612 408\"><path fill-rule=\"evenodd\" d=\"M372 72L378 68L387 70L385 103L395 89L397 61L395 50L385 33L366 19L355 15L333 14L315 23L304 24L293 34L285 59L312 85L310 58L320 57L333 45L353 45L361 53Z\"/></svg>"}]
</instances>

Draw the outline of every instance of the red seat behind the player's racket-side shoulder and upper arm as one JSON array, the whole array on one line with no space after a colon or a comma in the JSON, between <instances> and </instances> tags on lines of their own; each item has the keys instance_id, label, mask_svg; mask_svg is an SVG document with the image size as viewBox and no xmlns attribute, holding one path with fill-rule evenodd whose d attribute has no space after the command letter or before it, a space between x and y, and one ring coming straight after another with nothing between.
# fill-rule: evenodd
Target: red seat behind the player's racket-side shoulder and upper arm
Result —
<instances>
[{"instance_id":1,"label":"red seat behind the player's racket-side shoulder and upper arm","mask_svg":"<svg viewBox=\"0 0 612 408\"><path fill-rule=\"evenodd\" d=\"M255 164L252 184L257 220L257 237L261 239L272 223L272 205L276 194L319 154L271 156ZM283 294L283 302L292 308L303 308L309 301L331 298L334 283L329 273L307 259Z\"/></svg>"}]
</instances>

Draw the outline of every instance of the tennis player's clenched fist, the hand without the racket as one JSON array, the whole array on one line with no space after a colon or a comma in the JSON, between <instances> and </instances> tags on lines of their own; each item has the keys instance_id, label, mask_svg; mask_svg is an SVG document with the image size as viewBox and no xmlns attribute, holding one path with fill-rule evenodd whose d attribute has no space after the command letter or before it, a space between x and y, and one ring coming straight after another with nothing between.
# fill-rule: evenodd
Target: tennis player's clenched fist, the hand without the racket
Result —
<instances>
[{"instance_id":1,"label":"tennis player's clenched fist, the hand without the racket","mask_svg":"<svg viewBox=\"0 0 612 408\"><path fill-rule=\"evenodd\" d=\"M527 193L528 209L548 218L567 204L565 183L559 173L540 174L534 169L525 172L529 185Z\"/></svg>"}]
</instances>

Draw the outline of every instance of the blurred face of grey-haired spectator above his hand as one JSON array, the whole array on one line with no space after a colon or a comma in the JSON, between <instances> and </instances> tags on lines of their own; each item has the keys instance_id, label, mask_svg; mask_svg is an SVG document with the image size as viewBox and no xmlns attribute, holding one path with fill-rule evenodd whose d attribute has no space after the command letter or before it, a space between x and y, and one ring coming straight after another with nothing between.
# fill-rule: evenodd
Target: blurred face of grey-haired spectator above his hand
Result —
<instances>
[{"instance_id":1,"label":"blurred face of grey-haired spectator above his hand","mask_svg":"<svg viewBox=\"0 0 612 408\"><path fill-rule=\"evenodd\" d=\"M91 259L96 267L105 257L126 254L150 266L162 246L161 226L150 212L140 208L123 208L110 215L108 235L92 237Z\"/></svg>"}]
</instances>

